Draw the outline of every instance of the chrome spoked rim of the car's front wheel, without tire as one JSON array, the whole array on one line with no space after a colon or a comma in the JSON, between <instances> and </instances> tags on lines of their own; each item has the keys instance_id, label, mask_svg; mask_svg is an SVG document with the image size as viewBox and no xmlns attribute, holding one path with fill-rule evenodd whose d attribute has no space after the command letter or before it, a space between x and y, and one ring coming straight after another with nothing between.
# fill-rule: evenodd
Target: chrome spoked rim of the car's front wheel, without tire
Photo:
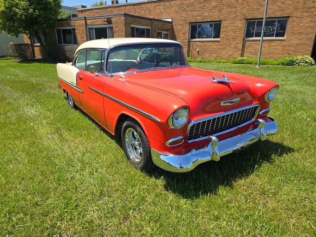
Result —
<instances>
[{"instance_id":1,"label":"chrome spoked rim of the car's front wheel, without tire","mask_svg":"<svg viewBox=\"0 0 316 237\"><path fill-rule=\"evenodd\" d=\"M128 128L125 132L125 146L131 159L135 163L140 163L143 159L142 142L137 132L132 128Z\"/></svg>"}]
</instances>

